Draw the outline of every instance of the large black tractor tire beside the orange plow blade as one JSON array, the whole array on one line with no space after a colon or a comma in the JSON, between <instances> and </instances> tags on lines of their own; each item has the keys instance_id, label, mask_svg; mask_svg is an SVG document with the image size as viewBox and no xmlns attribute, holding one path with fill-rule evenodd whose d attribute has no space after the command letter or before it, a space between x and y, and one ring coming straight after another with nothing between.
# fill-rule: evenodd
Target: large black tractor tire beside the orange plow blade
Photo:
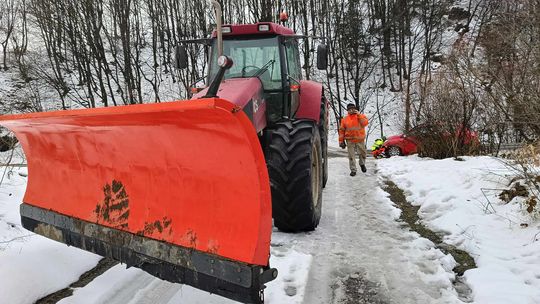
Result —
<instances>
[{"instance_id":1,"label":"large black tractor tire beside the orange plow blade","mask_svg":"<svg viewBox=\"0 0 540 304\"><path fill-rule=\"evenodd\" d=\"M267 166L274 226L311 231L319 224L323 166L319 128L311 120L285 121L270 130Z\"/></svg>"}]
</instances>

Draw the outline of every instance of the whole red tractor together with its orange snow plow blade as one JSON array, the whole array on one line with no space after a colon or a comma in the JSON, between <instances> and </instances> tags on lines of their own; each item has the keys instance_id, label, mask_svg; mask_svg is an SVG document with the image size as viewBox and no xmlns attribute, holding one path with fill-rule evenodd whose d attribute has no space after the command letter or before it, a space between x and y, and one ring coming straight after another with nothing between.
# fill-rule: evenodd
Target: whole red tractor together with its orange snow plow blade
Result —
<instances>
[{"instance_id":1,"label":"whole red tractor together with its orange snow plow blade","mask_svg":"<svg viewBox=\"0 0 540 304\"><path fill-rule=\"evenodd\" d=\"M272 217L280 230L315 229L328 178L327 102L302 80L304 38L269 22L218 25L204 40L211 81L191 100L1 117L27 156L23 226L261 303L277 276ZM185 47L175 58L187 67Z\"/></svg>"}]
</instances>

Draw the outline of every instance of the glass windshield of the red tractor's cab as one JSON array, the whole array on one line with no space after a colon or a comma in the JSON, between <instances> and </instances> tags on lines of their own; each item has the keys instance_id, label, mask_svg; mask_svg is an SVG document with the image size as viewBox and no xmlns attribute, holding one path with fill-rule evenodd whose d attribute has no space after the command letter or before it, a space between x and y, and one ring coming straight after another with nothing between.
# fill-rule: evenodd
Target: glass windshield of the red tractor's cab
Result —
<instances>
[{"instance_id":1,"label":"glass windshield of the red tractor's cab","mask_svg":"<svg viewBox=\"0 0 540 304\"><path fill-rule=\"evenodd\" d=\"M215 45L216 40L213 41ZM215 49L215 48L214 48ZM217 52L212 52L210 79L217 73ZM259 77L265 90L281 89L281 64L277 37L223 40L223 54L232 58L233 66L225 79Z\"/></svg>"}]
</instances>

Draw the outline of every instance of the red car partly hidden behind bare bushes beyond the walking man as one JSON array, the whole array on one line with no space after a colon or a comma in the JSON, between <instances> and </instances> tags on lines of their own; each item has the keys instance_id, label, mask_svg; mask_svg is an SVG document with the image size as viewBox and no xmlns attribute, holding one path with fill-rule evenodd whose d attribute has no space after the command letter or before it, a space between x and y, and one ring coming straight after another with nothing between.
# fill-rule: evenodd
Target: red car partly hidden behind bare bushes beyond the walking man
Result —
<instances>
[{"instance_id":1,"label":"red car partly hidden behind bare bushes beyond the walking man","mask_svg":"<svg viewBox=\"0 0 540 304\"><path fill-rule=\"evenodd\" d=\"M441 134L442 137L450 137L451 132L440 131L440 128L430 127L429 125L420 125L412 128L406 134L390 136L384 142L386 157L399 156L399 155L411 155L418 153L418 148L422 143L422 138L433 136L434 134ZM456 138L461 136L461 129L456 131ZM469 129L465 130L464 144L466 145L479 145L478 133Z\"/></svg>"}]
</instances>

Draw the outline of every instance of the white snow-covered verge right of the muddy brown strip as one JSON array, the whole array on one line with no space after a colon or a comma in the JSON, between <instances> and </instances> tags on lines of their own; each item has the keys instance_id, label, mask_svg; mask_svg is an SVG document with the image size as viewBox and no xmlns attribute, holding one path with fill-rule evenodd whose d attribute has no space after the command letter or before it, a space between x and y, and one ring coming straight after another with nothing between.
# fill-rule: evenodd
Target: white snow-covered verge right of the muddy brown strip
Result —
<instances>
[{"instance_id":1,"label":"white snow-covered verge right of the muddy brown strip","mask_svg":"<svg viewBox=\"0 0 540 304\"><path fill-rule=\"evenodd\" d=\"M464 276L476 303L540 303L540 223L519 198L508 204L498 198L512 178L501 160L463 159L397 157L378 167L421 206L424 224L474 257L478 268Z\"/></svg>"}]
</instances>

